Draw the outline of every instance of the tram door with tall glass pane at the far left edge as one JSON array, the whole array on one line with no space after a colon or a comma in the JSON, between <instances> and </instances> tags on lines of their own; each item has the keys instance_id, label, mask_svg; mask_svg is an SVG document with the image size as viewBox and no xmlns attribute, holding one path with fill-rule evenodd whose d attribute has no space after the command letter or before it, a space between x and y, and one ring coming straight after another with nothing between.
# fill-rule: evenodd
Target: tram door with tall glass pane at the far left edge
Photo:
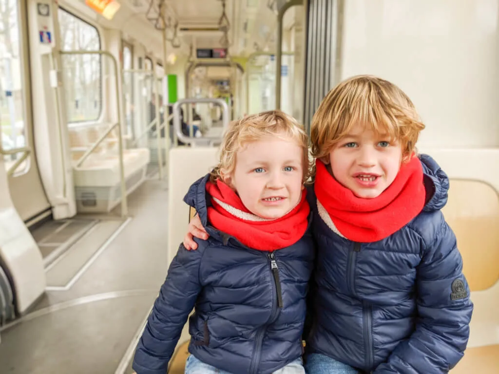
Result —
<instances>
[{"instance_id":1,"label":"tram door with tall glass pane at the far left edge","mask_svg":"<svg viewBox=\"0 0 499 374\"><path fill-rule=\"evenodd\" d=\"M10 33L0 38L1 157L12 202L25 221L50 208L34 155L26 2L0 0L0 19L10 19ZM4 14L8 12L9 14ZM13 150L29 149L29 152ZM22 163L20 158L27 153ZM16 164L19 164L16 166ZM2 171L3 172L3 171Z\"/></svg>"}]
</instances>

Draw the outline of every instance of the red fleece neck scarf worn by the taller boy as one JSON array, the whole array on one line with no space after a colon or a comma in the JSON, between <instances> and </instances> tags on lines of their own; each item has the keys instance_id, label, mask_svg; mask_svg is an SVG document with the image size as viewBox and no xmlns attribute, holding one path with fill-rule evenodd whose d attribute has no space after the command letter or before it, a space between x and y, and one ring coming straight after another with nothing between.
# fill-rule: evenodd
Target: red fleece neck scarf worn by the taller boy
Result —
<instances>
[{"instance_id":1,"label":"red fleece neck scarf worn by the taller boy","mask_svg":"<svg viewBox=\"0 0 499 374\"><path fill-rule=\"evenodd\" d=\"M349 240L364 243L384 239L404 227L421 212L426 195L423 168L417 157L403 164L393 183L375 198L355 196L316 160L314 190L337 231Z\"/></svg>"}]
</instances>

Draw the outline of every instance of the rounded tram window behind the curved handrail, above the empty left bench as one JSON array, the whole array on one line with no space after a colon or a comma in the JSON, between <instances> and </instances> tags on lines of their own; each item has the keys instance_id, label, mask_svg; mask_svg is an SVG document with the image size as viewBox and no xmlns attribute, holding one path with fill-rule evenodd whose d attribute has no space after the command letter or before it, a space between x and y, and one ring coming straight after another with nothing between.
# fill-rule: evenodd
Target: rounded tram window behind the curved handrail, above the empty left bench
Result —
<instances>
[{"instance_id":1,"label":"rounded tram window behind the curved handrail, above the empty left bench","mask_svg":"<svg viewBox=\"0 0 499 374\"><path fill-rule=\"evenodd\" d=\"M62 50L100 49L97 28L59 8ZM62 55L66 110L69 123L95 121L102 111L100 55Z\"/></svg>"}]
</instances>

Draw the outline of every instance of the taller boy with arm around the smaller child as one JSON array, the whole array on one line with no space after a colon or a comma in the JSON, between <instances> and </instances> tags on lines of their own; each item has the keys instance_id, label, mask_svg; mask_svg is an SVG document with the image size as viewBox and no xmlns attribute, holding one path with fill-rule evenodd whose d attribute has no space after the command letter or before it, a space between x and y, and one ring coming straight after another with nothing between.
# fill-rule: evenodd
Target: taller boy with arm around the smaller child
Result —
<instances>
[{"instance_id":1,"label":"taller boy with arm around the smaller child","mask_svg":"<svg viewBox=\"0 0 499 374\"><path fill-rule=\"evenodd\" d=\"M416 154L423 129L399 87L367 75L333 88L312 120L309 374L448 373L463 357L473 304L440 210L449 179Z\"/></svg>"}]
</instances>

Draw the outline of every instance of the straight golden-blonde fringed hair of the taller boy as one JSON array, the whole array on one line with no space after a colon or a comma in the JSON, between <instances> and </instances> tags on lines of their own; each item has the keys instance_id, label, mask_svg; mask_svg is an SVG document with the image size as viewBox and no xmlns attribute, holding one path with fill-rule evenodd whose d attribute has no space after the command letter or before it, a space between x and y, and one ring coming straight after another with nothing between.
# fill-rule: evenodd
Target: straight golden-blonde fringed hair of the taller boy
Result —
<instances>
[{"instance_id":1,"label":"straight golden-blonde fringed hair of the taller boy","mask_svg":"<svg viewBox=\"0 0 499 374\"><path fill-rule=\"evenodd\" d=\"M416 151L425 128L399 87L372 75L357 75L339 83L320 103L310 128L312 155L324 160L357 123L399 141L405 161Z\"/></svg>"}]
</instances>

